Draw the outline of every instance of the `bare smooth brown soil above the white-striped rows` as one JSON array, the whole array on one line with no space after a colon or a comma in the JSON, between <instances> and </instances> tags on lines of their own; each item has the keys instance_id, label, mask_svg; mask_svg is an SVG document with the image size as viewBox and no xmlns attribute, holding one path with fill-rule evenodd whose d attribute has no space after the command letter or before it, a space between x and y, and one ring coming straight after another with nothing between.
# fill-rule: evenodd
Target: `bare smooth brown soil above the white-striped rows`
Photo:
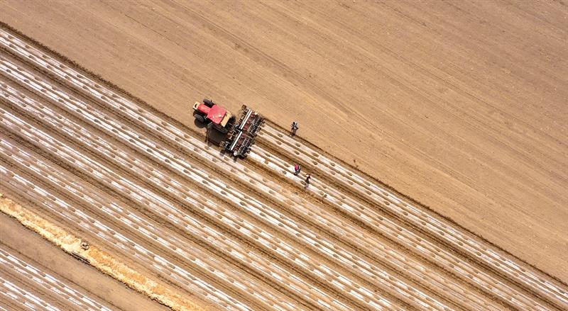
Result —
<instances>
[{"instance_id":1,"label":"bare smooth brown soil above the white-striped rows","mask_svg":"<svg viewBox=\"0 0 568 311\"><path fill-rule=\"evenodd\" d=\"M1 21L185 125L204 96L298 120L301 137L567 282L567 11L6 1Z\"/></svg>"}]
</instances>

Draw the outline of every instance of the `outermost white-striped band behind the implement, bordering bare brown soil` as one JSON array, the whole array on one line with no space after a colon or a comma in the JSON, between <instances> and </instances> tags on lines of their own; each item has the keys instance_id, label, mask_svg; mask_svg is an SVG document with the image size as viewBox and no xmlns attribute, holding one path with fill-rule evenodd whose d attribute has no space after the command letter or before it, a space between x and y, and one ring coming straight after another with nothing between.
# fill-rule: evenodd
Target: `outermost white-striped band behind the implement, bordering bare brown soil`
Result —
<instances>
[{"instance_id":1,"label":"outermost white-striped band behind the implement, bordering bare brown soil","mask_svg":"<svg viewBox=\"0 0 568 311\"><path fill-rule=\"evenodd\" d=\"M562 284L535 271L528 265L515 262L510 256L481 241L478 237L472 236L469 232L460 230L455 225L442 220L441 217L434 215L427 209L417 208L390 189L379 186L371 178L363 177L360 173L346 168L324 153L312 149L301 140L288 137L285 133L274 128L273 125L267 124L258 136L261 138L259 140L261 144L271 145L287 157L310 159L307 161L308 165L317 171L321 171L324 179L318 181L316 177L312 179L313 183L330 182L337 183L342 188L348 188L349 192L345 194L352 193L351 196L354 194L354 197L380 206L394 215L401 223L410 223L413 228L420 228L419 230L425 232L427 236L442 242L442 245L444 245L442 249L457 249L461 254L464 254L463 256L466 259L475 261L477 265L481 266L481 269L487 270L488 278L493 278L493 280L501 278L503 281L515 283L524 288L525 293L536 294L542 300L548 301L561 309L565 305L563 297L567 296L567 290ZM490 276L490 274L495 276ZM523 294L518 293L517 295ZM527 299L530 300L530 298ZM538 305L535 305L535 307L538 307ZM546 309L547 305L540 305L540 307Z\"/></svg>"}]
</instances>

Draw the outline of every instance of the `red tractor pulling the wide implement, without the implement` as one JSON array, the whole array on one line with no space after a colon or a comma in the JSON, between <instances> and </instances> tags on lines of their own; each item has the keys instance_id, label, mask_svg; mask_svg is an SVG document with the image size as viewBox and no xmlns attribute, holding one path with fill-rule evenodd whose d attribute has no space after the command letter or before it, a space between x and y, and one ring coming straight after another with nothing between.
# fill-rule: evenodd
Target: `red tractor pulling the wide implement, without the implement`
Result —
<instances>
[{"instance_id":1,"label":"red tractor pulling the wide implement, without the implement","mask_svg":"<svg viewBox=\"0 0 568 311\"><path fill-rule=\"evenodd\" d=\"M193 104L195 120L207 124L207 129L214 128L223 134L231 130L235 123L235 117L222 106L205 98L202 103L196 101Z\"/></svg>"}]
</instances>

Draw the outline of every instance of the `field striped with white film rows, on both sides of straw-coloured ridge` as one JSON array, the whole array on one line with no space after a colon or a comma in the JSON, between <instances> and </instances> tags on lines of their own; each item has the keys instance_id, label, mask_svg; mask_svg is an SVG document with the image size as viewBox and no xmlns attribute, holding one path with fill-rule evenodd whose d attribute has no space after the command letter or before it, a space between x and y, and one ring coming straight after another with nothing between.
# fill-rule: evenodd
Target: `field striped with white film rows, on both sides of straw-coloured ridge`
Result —
<instances>
[{"instance_id":1,"label":"field striped with white film rows, on both sides of straw-coloured ridge","mask_svg":"<svg viewBox=\"0 0 568 311\"><path fill-rule=\"evenodd\" d=\"M0 94L0 191L213 309L568 307L568 287L552 273L276 123L236 161L195 126L9 28L0 30ZM292 174L297 159L300 176ZM565 171L550 174L562 180ZM40 260L4 242L0 265L0 308L120 308L47 277Z\"/></svg>"}]
</instances>

